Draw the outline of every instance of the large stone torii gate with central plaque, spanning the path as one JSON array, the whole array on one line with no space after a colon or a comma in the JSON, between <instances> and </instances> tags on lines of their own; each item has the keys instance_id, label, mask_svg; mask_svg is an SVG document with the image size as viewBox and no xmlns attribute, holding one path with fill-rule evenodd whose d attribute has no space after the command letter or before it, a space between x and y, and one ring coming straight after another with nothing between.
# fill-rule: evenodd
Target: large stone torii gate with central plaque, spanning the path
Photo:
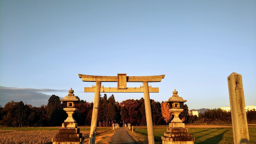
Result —
<instances>
[{"instance_id":1,"label":"large stone torii gate with central plaque, spanning the path","mask_svg":"<svg viewBox=\"0 0 256 144\"><path fill-rule=\"evenodd\" d=\"M148 82L161 82L165 75L126 76L126 74L117 74L117 76L90 76L78 74L78 76L82 78L82 81L84 82L96 82L95 86L84 88L84 92L95 92L92 109L92 123L90 129L89 144L95 143L95 132L97 127L100 92L144 92L145 111L148 129L148 143L155 144L149 92L159 92L159 88L153 88L151 86L148 86ZM117 87L104 87L101 86L101 82L117 82ZM126 87L127 82L142 82L143 86L130 88Z\"/></svg>"}]
</instances>

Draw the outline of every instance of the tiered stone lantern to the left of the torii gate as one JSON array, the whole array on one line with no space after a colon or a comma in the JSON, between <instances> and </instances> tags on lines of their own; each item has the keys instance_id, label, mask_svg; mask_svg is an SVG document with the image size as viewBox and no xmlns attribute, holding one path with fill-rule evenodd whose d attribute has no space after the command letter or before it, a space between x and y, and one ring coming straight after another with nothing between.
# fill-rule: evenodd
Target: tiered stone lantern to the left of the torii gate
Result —
<instances>
[{"instance_id":1,"label":"tiered stone lantern to the left of the torii gate","mask_svg":"<svg viewBox=\"0 0 256 144\"><path fill-rule=\"evenodd\" d=\"M67 112L68 118L62 123L59 133L55 135L55 138L52 138L52 144L84 144L84 137L73 118L73 114L77 110L74 108L74 102L77 102L78 99L74 96L72 88L68 92L69 94L64 99L60 99L67 102L67 108L63 109Z\"/></svg>"}]
</instances>

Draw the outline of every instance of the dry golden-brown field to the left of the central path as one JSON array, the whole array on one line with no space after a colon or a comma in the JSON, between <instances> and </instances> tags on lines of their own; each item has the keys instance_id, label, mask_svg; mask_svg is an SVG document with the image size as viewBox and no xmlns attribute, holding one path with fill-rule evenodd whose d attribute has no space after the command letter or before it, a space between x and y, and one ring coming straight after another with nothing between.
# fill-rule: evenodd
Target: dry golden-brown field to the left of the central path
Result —
<instances>
[{"instance_id":1,"label":"dry golden-brown field to the left of the central path","mask_svg":"<svg viewBox=\"0 0 256 144\"><path fill-rule=\"evenodd\" d=\"M50 129L50 130L49 130ZM52 144L52 138L58 133L59 127L55 128L0 128L0 144ZM89 127L80 128L85 138L84 142L89 141ZM107 144L112 139L115 131L110 131L110 127L99 127L97 130L96 143Z\"/></svg>"}]
</instances>

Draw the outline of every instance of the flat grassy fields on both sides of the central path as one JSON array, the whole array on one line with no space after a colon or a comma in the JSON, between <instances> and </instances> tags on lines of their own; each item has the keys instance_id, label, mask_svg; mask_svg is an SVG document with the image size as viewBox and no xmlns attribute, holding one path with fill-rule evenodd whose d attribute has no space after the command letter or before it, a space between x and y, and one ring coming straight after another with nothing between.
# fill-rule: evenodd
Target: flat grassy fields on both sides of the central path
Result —
<instances>
[{"instance_id":1,"label":"flat grassy fields on both sides of the central path","mask_svg":"<svg viewBox=\"0 0 256 144\"><path fill-rule=\"evenodd\" d=\"M256 143L256 124L249 124L250 143ZM154 126L155 143L162 143L161 136L168 126ZM233 144L233 132L231 124L224 125L186 125L188 132L196 139L195 144ZM54 134L60 127L1 127L0 143L5 144L52 144ZM148 144L147 126L134 126L128 132L141 144ZM80 127L85 143L89 139L90 127ZM116 130L112 127L98 127L96 143L107 144L111 141Z\"/></svg>"}]
</instances>

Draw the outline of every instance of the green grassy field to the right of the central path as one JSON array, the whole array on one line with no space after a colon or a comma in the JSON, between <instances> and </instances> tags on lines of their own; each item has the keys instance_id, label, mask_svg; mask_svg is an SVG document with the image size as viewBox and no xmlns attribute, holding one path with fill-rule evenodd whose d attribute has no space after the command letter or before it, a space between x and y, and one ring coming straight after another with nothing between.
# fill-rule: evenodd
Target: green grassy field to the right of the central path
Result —
<instances>
[{"instance_id":1,"label":"green grassy field to the right of the central path","mask_svg":"<svg viewBox=\"0 0 256 144\"><path fill-rule=\"evenodd\" d=\"M249 138L250 143L256 144L256 124L249 124ZM166 132L168 126L154 126L155 143L162 143L161 136ZM232 124L223 125L185 125L188 127L188 133L194 137L195 144L233 144ZM148 143L148 132L146 126L134 126L129 133L133 138L142 144Z\"/></svg>"}]
</instances>

